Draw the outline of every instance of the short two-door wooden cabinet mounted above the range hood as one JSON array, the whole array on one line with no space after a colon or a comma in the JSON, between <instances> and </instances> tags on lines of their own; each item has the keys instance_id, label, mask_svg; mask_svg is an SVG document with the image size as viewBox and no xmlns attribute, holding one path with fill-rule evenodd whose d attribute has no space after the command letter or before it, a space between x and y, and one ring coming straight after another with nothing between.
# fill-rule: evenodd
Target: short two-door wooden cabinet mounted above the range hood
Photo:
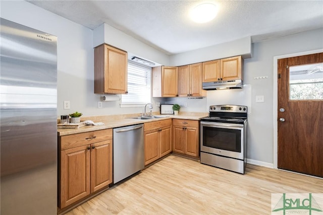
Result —
<instances>
[{"instance_id":1,"label":"short two-door wooden cabinet mounted above the range hood","mask_svg":"<svg viewBox=\"0 0 323 215\"><path fill-rule=\"evenodd\" d=\"M202 63L202 82L217 82L242 79L241 56Z\"/></svg>"}]
</instances>

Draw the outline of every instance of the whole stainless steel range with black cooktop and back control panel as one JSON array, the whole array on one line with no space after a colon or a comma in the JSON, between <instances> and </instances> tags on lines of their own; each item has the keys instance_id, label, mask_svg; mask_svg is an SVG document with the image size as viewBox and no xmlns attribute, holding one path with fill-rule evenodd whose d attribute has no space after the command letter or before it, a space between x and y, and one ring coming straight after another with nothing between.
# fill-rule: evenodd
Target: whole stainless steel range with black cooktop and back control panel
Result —
<instances>
[{"instance_id":1,"label":"whole stainless steel range with black cooktop and back control panel","mask_svg":"<svg viewBox=\"0 0 323 215\"><path fill-rule=\"evenodd\" d=\"M247 163L247 106L211 105L200 123L200 162L244 174Z\"/></svg>"}]
</instances>

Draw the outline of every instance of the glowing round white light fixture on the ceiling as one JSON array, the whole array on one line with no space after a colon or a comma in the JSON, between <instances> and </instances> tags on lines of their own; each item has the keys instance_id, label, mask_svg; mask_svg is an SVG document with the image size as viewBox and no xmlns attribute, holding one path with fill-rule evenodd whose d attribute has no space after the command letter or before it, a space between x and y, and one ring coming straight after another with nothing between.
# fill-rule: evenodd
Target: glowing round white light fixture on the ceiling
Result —
<instances>
[{"instance_id":1,"label":"glowing round white light fixture on the ceiling","mask_svg":"<svg viewBox=\"0 0 323 215\"><path fill-rule=\"evenodd\" d=\"M214 19L218 14L218 7L210 3L196 6L191 11L191 19L197 23L205 23Z\"/></svg>"}]
</instances>

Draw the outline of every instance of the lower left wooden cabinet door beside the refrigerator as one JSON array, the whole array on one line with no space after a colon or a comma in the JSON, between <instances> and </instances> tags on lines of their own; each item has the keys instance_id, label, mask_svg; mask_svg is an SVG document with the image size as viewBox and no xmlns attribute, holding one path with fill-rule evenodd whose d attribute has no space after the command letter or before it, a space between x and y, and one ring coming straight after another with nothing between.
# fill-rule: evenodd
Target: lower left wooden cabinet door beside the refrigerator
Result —
<instances>
[{"instance_id":1,"label":"lower left wooden cabinet door beside the refrigerator","mask_svg":"<svg viewBox=\"0 0 323 215\"><path fill-rule=\"evenodd\" d=\"M90 194L90 145L61 151L61 208Z\"/></svg>"}]
</instances>

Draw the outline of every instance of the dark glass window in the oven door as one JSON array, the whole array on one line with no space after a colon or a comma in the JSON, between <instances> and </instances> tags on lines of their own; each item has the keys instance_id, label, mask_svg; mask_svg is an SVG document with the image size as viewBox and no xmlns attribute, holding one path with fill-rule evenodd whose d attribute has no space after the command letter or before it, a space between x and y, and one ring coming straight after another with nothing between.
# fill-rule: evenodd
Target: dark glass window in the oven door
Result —
<instances>
[{"instance_id":1,"label":"dark glass window in the oven door","mask_svg":"<svg viewBox=\"0 0 323 215\"><path fill-rule=\"evenodd\" d=\"M241 130L203 126L203 146L241 152Z\"/></svg>"}]
</instances>

